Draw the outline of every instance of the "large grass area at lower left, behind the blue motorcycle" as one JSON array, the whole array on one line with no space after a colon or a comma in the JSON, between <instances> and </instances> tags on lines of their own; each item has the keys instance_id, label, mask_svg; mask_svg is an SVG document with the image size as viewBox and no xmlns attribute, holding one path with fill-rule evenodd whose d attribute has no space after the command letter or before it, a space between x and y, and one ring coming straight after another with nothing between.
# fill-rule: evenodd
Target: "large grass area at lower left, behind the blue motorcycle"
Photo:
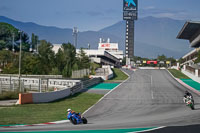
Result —
<instances>
[{"instance_id":1,"label":"large grass area at lower left, behind the blue motorcycle","mask_svg":"<svg viewBox=\"0 0 200 133\"><path fill-rule=\"evenodd\" d=\"M83 113L103 95L78 93L66 99L46 104L25 104L0 107L0 125L37 124L64 120L67 109Z\"/></svg>"}]
</instances>

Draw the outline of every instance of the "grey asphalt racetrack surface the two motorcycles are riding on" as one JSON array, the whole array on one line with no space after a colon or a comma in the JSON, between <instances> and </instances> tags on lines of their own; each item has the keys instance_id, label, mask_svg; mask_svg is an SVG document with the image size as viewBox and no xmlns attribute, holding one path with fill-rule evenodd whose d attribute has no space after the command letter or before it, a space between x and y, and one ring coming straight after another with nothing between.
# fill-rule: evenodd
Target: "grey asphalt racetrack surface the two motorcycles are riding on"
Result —
<instances>
[{"instance_id":1,"label":"grey asphalt racetrack surface the two motorcycles are riding on","mask_svg":"<svg viewBox=\"0 0 200 133\"><path fill-rule=\"evenodd\" d=\"M126 70L130 78L84 114L87 125L71 123L18 127L1 131L96 130L196 125L200 130L200 98L193 94L195 110L183 103L186 88L166 70ZM188 126L187 126L188 127ZM189 127L188 127L189 128ZM169 129L169 128L165 128ZM162 131L162 129L161 129ZM171 128L170 128L171 131ZM183 130L184 131L184 130Z\"/></svg>"}]
</instances>

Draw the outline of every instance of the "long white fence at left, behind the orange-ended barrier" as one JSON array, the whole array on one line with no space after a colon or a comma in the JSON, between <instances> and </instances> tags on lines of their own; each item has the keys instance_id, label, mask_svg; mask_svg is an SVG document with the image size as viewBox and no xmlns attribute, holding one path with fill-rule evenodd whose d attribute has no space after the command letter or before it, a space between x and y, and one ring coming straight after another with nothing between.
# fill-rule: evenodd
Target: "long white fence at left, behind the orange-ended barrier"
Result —
<instances>
[{"instance_id":1,"label":"long white fence at left, behind the orange-ended barrier","mask_svg":"<svg viewBox=\"0 0 200 133\"><path fill-rule=\"evenodd\" d=\"M80 80L66 80L66 79L41 79L41 78L19 78L19 77L0 77L0 93L3 91L20 92L49 92L70 88Z\"/></svg>"}]
</instances>

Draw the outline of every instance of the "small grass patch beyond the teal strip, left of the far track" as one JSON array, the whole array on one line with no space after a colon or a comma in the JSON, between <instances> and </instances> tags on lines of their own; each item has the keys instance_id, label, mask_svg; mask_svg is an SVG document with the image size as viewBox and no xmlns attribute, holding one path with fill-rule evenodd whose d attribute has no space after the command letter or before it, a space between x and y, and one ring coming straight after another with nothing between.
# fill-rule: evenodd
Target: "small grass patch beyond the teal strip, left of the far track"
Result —
<instances>
[{"instance_id":1,"label":"small grass patch beyond the teal strip, left of the far track","mask_svg":"<svg viewBox=\"0 0 200 133\"><path fill-rule=\"evenodd\" d=\"M126 80L128 78L128 76L124 72L122 72L120 69L113 68L112 70L113 70L114 77L110 80L107 80L106 82L117 81L117 80Z\"/></svg>"}]
</instances>

